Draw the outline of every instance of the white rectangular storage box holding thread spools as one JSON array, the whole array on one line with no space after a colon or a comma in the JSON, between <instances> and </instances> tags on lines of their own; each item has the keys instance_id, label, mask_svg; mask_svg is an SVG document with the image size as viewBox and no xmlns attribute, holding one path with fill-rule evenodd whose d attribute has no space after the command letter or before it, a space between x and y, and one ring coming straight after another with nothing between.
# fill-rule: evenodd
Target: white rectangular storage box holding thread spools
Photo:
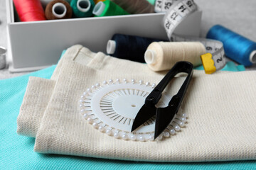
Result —
<instances>
[{"instance_id":1,"label":"white rectangular storage box holding thread spools","mask_svg":"<svg viewBox=\"0 0 256 170\"><path fill-rule=\"evenodd\" d=\"M94 52L106 51L114 33L166 39L164 13L15 22L14 4L6 0L10 72L42 69L56 64L66 48L81 44ZM201 11L193 13L175 33L199 36Z\"/></svg>"}]
</instances>

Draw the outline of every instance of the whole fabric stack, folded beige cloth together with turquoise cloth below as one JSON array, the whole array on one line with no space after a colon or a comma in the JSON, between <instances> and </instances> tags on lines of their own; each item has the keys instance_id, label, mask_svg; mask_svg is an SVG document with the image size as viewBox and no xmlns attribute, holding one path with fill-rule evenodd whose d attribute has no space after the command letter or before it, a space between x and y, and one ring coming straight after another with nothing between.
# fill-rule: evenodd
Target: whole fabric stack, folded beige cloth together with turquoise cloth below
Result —
<instances>
[{"instance_id":1,"label":"whole fabric stack, folded beige cloth together with turquoise cloth below","mask_svg":"<svg viewBox=\"0 0 256 170\"><path fill-rule=\"evenodd\" d=\"M80 114L80 96L93 84L110 79L157 84L165 73L75 45L56 67L0 81L1 167L255 169L255 72L195 70L183 102L186 128L164 140L116 139ZM16 128L26 137L16 135Z\"/></svg>"}]
</instances>

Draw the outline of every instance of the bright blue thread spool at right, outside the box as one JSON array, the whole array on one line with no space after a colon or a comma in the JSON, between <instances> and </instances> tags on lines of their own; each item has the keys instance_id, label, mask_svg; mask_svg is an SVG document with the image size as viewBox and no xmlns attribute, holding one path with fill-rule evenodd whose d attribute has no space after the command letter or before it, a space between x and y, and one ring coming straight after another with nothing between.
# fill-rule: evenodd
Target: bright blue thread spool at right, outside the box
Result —
<instances>
[{"instance_id":1,"label":"bright blue thread spool at right, outside the box","mask_svg":"<svg viewBox=\"0 0 256 170\"><path fill-rule=\"evenodd\" d=\"M220 25L210 28L206 37L223 42L225 55L235 62L245 66L256 63L256 42Z\"/></svg>"}]
</instances>

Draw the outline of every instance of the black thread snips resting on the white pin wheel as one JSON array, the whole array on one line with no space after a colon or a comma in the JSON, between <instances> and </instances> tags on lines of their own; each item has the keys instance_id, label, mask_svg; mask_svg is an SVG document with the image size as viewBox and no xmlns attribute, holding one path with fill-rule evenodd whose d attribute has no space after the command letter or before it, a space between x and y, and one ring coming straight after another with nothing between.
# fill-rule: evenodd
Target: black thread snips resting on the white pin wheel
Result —
<instances>
[{"instance_id":1,"label":"black thread snips resting on the white pin wheel","mask_svg":"<svg viewBox=\"0 0 256 170\"><path fill-rule=\"evenodd\" d=\"M159 102L162 92L169 84L169 81L174 78L178 73L185 72L187 77L178 93L171 98L169 105L166 108L156 108L156 103ZM188 88L188 84L191 81L193 75L193 64L190 62L177 62L174 67L166 74L166 76L160 81L160 83L151 91L149 96L146 97L145 103L137 113L133 125L132 131L139 128L140 125L149 120L152 116L156 115L154 139L163 132L166 127L171 123L174 115L178 113L178 108L181 106L181 102Z\"/></svg>"}]
</instances>

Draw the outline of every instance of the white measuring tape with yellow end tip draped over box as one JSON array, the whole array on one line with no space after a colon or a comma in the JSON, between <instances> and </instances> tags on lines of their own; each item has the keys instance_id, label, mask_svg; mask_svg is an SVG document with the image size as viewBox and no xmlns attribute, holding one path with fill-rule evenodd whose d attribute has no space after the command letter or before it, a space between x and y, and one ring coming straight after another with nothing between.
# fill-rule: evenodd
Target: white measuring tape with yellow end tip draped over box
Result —
<instances>
[{"instance_id":1,"label":"white measuring tape with yellow end tip draped over box","mask_svg":"<svg viewBox=\"0 0 256 170\"><path fill-rule=\"evenodd\" d=\"M159 2L161 1L161 5ZM191 13L197 11L197 6L192 0L175 1L173 4L168 4L167 0L157 0L155 6L158 6L159 11L165 8L164 28L171 41L199 41L206 47L206 54L201 55L201 60L206 74L216 72L225 67L225 53L223 43L216 40L208 40L203 38L191 38L187 36L174 35L173 32L179 23L184 21ZM163 7L164 6L164 7Z\"/></svg>"}]
</instances>

